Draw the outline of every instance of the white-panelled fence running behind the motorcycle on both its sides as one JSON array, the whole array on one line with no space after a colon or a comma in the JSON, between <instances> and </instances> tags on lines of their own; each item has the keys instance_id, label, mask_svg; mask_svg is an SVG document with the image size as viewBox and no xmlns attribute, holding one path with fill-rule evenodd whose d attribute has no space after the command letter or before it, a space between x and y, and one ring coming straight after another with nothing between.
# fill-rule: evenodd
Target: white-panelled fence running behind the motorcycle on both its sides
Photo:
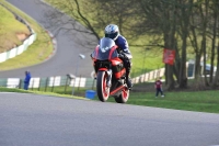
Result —
<instances>
[{"instance_id":1,"label":"white-panelled fence running behind the motorcycle on both its sides","mask_svg":"<svg viewBox=\"0 0 219 146\"><path fill-rule=\"evenodd\" d=\"M164 75L164 68L153 70L141 75L139 77L132 78L134 83L147 82L150 80L154 80L158 77L162 77ZM0 79L0 87L7 88L19 88L23 89L24 80L20 78L2 78ZM92 89L95 90L96 80L93 78L83 78L83 77L74 77L70 78L69 76L55 76L47 78L31 78L28 89L37 90L44 92L60 92L67 93L74 90L79 91L80 89ZM56 90L56 91L55 91Z\"/></svg>"}]
</instances>

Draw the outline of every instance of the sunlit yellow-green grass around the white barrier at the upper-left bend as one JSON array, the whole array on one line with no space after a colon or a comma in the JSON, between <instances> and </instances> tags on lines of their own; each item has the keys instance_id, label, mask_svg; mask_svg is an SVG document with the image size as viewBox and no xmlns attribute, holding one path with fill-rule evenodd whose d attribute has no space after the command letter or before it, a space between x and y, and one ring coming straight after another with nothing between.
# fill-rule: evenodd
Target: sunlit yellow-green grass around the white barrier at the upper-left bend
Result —
<instances>
[{"instance_id":1,"label":"sunlit yellow-green grass around the white barrier at the upper-left bend","mask_svg":"<svg viewBox=\"0 0 219 146\"><path fill-rule=\"evenodd\" d=\"M53 46L49 35L45 32L45 30L41 25L38 25L36 23L36 21L34 21L33 19L27 16L25 13L23 13L19 9L14 8L7 1L0 0L0 2L3 3L4 5L7 5L8 8L10 8L11 10L13 10L16 14L21 15L24 20L26 20L30 23L31 27L37 34L36 41L28 47L27 50L25 50L23 54L16 56L14 58L11 58L4 63L1 63L0 70L10 70L10 69L22 68L22 67L43 63L51 54L51 52L54 49L54 46ZM8 12L5 12L5 13L8 13ZM8 13L8 15L11 15L11 14ZM2 13L0 13L0 16L2 16ZM11 16L7 16L7 18L4 18L4 20L8 23L12 23ZM7 23L7 25L10 25L8 23ZM4 40L13 40L12 35L15 36L14 33L20 30L20 29L18 29L18 25L12 25L11 27L13 27L11 30L14 30L14 31L11 32L10 37L4 36L3 37ZM3 30L3 29L4 27L1 26L1 30ZM10 32L10 31L8 31L8 32ZM2 36L0 36L0 37L2 37Z\"/></svg>"}]
</instances>

